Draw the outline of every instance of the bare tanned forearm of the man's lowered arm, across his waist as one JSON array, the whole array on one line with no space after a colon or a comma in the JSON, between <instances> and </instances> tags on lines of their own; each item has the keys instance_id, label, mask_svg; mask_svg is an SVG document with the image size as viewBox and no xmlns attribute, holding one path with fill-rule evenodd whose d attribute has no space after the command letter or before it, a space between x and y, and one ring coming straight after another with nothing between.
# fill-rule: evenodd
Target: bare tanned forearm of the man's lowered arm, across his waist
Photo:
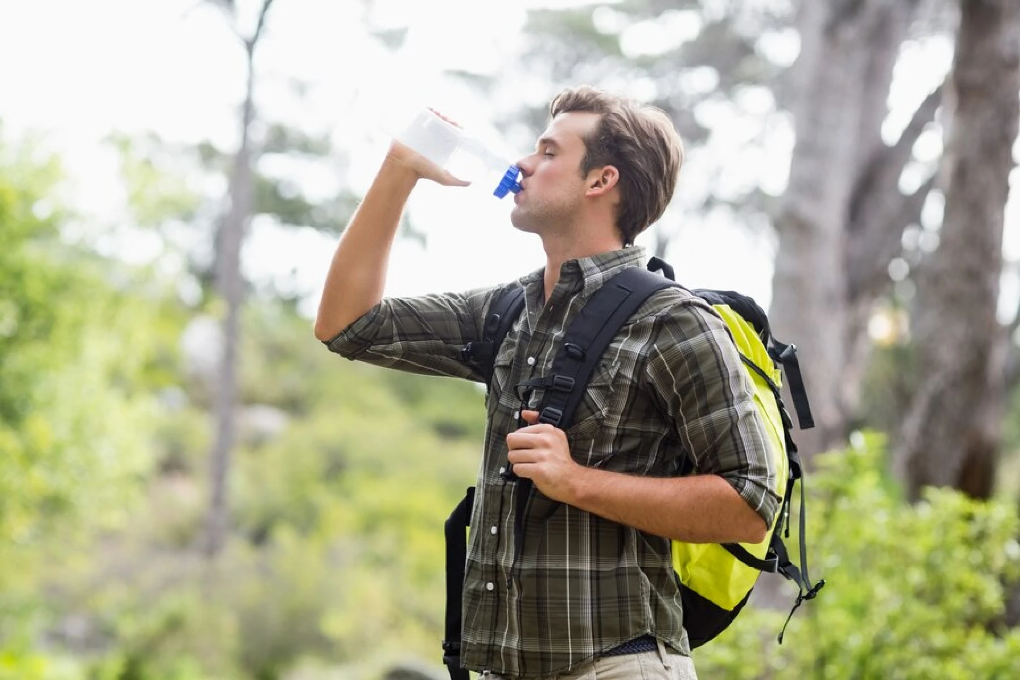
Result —
<instances>
[{"instance_id":1,"label":"bare tanned forearm of the man's lowered arm, across his waist","mask_svg":"<svg viewBox=\"0 0 1020 680\"><path fill-rule=\"evenodd\" d=\"M606 519L687 542L758 542L768 527L718 475L640 477L580 468L570 505Z\"/></svg>"}]
</instances>

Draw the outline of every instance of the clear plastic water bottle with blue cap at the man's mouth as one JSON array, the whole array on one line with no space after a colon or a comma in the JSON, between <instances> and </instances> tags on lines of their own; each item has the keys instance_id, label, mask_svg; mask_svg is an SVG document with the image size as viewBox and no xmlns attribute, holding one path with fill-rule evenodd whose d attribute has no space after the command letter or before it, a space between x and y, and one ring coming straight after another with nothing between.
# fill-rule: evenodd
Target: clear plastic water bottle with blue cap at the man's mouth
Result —
<instances>
[{"instance_id":1,"label":"clear plastic water bottle with blue cap at the man's mouth","mask_svg":"<svg viewBox=\"0 0 1020 680\"><path fill-rule=\"evenodd\" d=\"M520 168L492 151L483 142L423 108L397 141L496 198L520 191Z\"/></svg>"}]
</instances>

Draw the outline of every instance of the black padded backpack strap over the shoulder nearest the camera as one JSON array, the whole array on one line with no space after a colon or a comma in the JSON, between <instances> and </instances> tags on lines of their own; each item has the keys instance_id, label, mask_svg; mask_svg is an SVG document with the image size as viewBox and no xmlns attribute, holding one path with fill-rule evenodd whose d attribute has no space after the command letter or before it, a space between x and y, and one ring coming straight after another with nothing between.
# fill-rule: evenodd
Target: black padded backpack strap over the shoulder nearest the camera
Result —
<instances>
[{"instance_id":1,"label":"black padded backpack strap over the shoulder nearest the camera","mask_svg":"<svg viewBox=\"0 0 1020 680\"><path fill-rule=\"evenodd\" d=\"M584 386L613 336L645 301L670 285L675 283L664 276L628 267L595 292L567 328L550 375L541 379L546 391L540 422L570 427Z\"/></svg>"}]
</instances>

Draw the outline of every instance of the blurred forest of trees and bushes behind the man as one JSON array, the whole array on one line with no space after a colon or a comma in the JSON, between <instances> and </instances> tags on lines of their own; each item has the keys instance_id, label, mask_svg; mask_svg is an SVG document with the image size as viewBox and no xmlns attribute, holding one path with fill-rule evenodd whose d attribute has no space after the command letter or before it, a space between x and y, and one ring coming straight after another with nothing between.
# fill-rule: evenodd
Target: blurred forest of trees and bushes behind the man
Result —
<instances>
[{"instance_id":1,"label":"blurred forest of trees and bushes behind the man","mask_svg":"<svg viewBox=\"0 0 1020 680\"><path fill-rule=\"evenodd\" d=\"M233 139L111 130L123 210L103 219L45 130L3 126L0 93L0 680L445 677L443 522L483 395L330 356L317 291L243 257L266 223L328 251L359 198L353 135L267 113L315 106L259 58L274 21L317 20L294 2L178 3L245 64ZM394 2L345 2L406 48ZM8 29L17 7L0 3ZM687 162L640 243L681 279L702 259L735 280L755 264L683 244L740 225L800 348L828 586L779 645L795 593L763 579L697 650L701 677L1020 677L1020 3L528 7L513 51L444 77L520 149L564 85L665 108ZM140 233L159 257L110 247ZM427 233L410 214L404 238Z\"/></svg>"}]
</instances>

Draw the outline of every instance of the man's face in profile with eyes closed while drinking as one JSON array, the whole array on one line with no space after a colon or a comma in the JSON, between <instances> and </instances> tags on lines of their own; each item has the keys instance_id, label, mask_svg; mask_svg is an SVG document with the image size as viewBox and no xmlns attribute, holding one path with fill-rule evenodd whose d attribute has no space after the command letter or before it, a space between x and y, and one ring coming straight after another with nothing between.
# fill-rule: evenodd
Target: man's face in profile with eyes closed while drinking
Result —
<instances>
[{"instance_id":1,"label":"man's face in profile with eyes closed while drinking","mask_svg":"<svg viewBox=\"0 0 1020 680\"><path fill-rule=\"evenodd\" d=\"M534 153L517 161L524 176L510 214L514 226L543 234L574 223L586 187L580 173L584 139L598 124L596 113L561 113L539 138Z\"/></svg>"}]
</instances>

